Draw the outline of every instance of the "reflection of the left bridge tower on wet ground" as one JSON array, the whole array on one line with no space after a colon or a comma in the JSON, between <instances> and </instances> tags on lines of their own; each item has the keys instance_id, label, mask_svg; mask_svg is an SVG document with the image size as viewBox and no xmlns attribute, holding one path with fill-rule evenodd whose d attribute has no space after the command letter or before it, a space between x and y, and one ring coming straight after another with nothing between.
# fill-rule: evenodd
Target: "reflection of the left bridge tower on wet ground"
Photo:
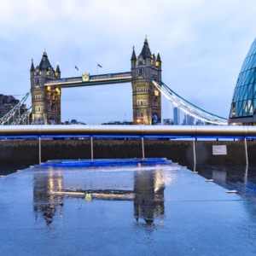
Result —
<instances>
[{"instance_id":1,"label":"reflection of the left bridge tower on wet ground","mask_svg":"<svg viewBox=\"0 0 256 256\"><path fill-rule=\"evenodd\" d=\"M37 172L34 177L33 208L36 219L39 215L45 219L46 224L51 224L55 212L62 216L63 195L50 195L52 191L61 190L63 179L61 172Z\"/></svg>"}]
</instances>

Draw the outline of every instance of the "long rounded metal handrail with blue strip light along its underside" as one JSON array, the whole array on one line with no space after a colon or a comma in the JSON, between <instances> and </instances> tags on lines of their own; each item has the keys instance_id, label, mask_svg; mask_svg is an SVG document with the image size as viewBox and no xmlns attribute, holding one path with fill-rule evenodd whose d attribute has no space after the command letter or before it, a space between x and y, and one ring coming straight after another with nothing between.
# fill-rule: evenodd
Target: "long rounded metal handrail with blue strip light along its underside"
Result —
<instances>
[{"instance_id":1,"label":"long rounded metal handrail with blue strip light along its underside","mask_svg":"<svg viewBox=\"0 0 256 256\"><path fill-rule=\"evenodd\" d=\"M0 137L256 138L246 125L1 125Z\"/></svg>"}]
</instances>

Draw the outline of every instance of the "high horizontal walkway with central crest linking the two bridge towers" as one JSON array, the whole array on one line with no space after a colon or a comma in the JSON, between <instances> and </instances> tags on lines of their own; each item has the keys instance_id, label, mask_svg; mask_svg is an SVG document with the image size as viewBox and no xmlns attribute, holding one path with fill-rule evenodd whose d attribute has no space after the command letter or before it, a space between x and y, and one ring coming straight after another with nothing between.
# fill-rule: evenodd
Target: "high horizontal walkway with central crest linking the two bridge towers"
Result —
<instances>
[{"instance_id":1,"label":"high horizontal walkway with central crest linking the two bridge towers","mask_svg":"<svg viewBox=\"0 0 256 256\"><path fill-rule=\"evenodd\" d=\"M45 86L55 86L57 88L70 88L91 85L104 85L104 84L121 84L131 82L131 72L124 73L108 73L91 75L84 74L82 77L74 77L67 79L48 79Z\"/></svg>"}]
</instances>

